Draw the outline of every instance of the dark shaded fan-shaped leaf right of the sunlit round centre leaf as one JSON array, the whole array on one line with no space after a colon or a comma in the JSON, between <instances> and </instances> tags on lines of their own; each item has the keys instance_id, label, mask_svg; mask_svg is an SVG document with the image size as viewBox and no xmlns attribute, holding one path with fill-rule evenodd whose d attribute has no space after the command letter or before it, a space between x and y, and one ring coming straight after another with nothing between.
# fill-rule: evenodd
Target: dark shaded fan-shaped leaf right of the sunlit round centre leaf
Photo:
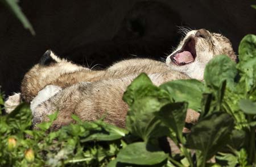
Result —
<instances>
[{"instance_id":1,"label":"dark shaded fan-shaped leaf right of the sunlit round centre leaf","mask_svg":"<svg viewBox=\"0 0 256 167\"><path fill-rule=\"evenodd\" d=\"M163 106L160 112L158 112L160 120L162 120L162 122L166 124L168 128L171 128L171 130L176 133L176 136L183 144L185 141L182 131L185 126L187 108L188 103L185 102L170 103L166 106Z\"/></svg>"}]
</instances>

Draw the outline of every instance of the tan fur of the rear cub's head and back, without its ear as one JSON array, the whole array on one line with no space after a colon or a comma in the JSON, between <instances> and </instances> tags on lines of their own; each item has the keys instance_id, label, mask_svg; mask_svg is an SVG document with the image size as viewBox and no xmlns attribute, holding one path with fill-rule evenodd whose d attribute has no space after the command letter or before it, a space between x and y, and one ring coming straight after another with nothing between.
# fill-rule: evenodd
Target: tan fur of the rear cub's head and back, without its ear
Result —
<instances>
[{"instance_id":1,"label":"tan fur of the rear cub's head and back, without its ear","mask_svg":"<svg viewBox=\"0 0 256 167\"><path fill-rule=\"evenodd\" d=\"M56 55L54 55L56 57ZM120 78L130 74L140 73L165 73L172 72L170 68L160 61L150 59L132 59L117 62L106 70L96 71L72 64L67 60L60 60L55 64L44 66L36 64L23 78L21 91L22 98L26 102L31 102L36 97L38 91L47 85L57 85L62 88L71 86L79 82L95 82L107 80L109 78ZM184 76L174 72L177 76Z\"/></svg>"}]
</instances>

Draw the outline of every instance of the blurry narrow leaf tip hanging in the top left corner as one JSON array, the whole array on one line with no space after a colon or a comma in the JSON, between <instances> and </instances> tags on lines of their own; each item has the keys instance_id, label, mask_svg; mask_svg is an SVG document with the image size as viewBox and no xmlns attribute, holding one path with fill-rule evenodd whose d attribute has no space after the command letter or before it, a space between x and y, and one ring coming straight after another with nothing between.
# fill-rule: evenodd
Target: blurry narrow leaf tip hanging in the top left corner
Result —
<instances>
[{"instance_id":1,"label":"blurry narrow leaf tip hanging in the top left corner","mask_svg":"<svg viewBox=\"0 0 256 167\"><path fill-rule=\"evenodd\" d=\"M28 29L32 35L35 35L34 28L26 18L26 16L23 14L22 10L20 9L18 5L18 1L16 0L3 0L3 2L13 11L16 18L19 19L19 21L23 24L23 27Z\"/></svg>"}]
</instances>

